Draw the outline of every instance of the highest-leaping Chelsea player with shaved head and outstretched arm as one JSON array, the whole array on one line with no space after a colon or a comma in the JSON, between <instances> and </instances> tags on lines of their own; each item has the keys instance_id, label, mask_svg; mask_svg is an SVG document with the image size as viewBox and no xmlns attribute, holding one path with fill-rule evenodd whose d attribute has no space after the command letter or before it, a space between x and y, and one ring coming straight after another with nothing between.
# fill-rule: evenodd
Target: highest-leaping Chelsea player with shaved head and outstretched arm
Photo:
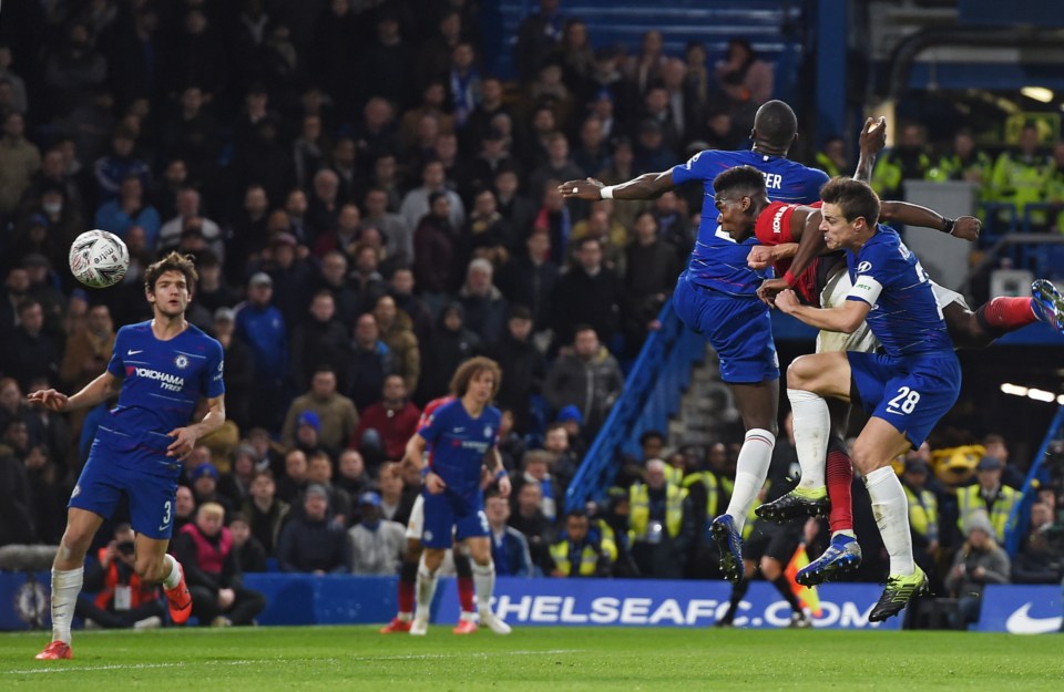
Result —
<instances>
[{"instance_id":1,"label":"highest-leaping Chelsea player with shaved head and outstretched arm","mask_svg":"<svg viewBox=\"0 0 1064 692\"><path fill-rule=\"evenodd\" d=\"M725 514L710 524L720 548L722 570L733 583L743 579L740 536L750 506L765 484L776 445L779 361L768 306L757 297L765 275L747 266L747 255L757 240L737 242L720 228L713 179L728 168L748 165L765 175L771 200L819 200L827 174L786 158L798 138L797 128L790 106L769 101L754 118L750 151L707 149L663 173L646 173L608 187L593 179L559 186L564 197L579 199L653 199L688 180L703 182L702 224L687 269L676 283L673 307L684 323L705 334L717 352L720 379L732 388L746 427L732 499Z\"/></svg>"}]
</instances>

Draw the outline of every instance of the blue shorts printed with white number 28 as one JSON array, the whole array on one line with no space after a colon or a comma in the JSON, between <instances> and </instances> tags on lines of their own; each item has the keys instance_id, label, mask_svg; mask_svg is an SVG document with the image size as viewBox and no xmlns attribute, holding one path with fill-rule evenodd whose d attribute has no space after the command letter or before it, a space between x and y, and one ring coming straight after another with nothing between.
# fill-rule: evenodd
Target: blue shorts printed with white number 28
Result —
<instances>
[{"instance_id":1,"label":"blue shorts printed with white number 28","mask_svg":"<svg viewBox=\"0 0 1064 692\"><path fill-rule=\"evenodd\" d=\"M906 359L847 351L846 357L864 411L897 427L913 448L961 392L961 364L952 351Z\"/></svg>"}]
</instances>

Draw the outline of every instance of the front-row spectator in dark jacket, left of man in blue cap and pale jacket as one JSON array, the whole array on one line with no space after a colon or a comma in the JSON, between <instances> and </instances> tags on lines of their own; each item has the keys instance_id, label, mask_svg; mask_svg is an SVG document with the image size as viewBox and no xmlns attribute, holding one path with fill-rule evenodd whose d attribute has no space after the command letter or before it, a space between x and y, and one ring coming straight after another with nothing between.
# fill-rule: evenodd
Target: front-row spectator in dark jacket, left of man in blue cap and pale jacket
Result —
<instances>
[{"instance_id":1,"label":"front-row spectator in dark jacket, left of man in blue cap and pale jacket","mask_svg":"<svg viewBox=\"0 0 1064 692\"><path fill-rule=\"evenodd\" d=\"M328 490L320 485L307 486L303 508L303 516L293 517L280 534L277 548L280 570L314 575L350 572L350 541L344 527L328 520Z\"/></svg>"}]
</instances>

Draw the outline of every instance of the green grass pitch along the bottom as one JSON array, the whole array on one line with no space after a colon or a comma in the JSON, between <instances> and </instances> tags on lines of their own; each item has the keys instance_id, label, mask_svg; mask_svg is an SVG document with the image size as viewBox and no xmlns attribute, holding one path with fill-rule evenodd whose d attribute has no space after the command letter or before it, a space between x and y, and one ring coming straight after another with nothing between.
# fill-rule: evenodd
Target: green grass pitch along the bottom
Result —
<instances>
[{"instance_id":1,"label":"green grass pitch along the bottom","mask_svg":"<svg viewBox=\"0 0 1064 692\"><path fill-rule=\"evenodd\" d=\"M376 628L0 634L0 690L1061 690L1058 636L963 632L523 628L424 639Z\"/></svg>"}]
</instances>

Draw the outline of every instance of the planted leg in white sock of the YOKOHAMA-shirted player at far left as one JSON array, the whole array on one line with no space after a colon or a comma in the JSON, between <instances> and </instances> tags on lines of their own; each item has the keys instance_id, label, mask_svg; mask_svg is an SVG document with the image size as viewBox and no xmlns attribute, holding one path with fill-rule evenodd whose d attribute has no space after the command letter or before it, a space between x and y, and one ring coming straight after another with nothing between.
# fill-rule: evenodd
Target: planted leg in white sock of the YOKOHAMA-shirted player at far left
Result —
<instances>
[{"instance_id":1,"label":"planted leg in white sock of the YOKOHAMA-shirted player at far left","mask_svg":"<svg viewBox=\"0 0 1064 692\"><path fill-rule=\"evenodd\" d=\"M85 572L85 554L92 537L103 525L103 517L86 509L71 507L66 513L66 530L52 561L52 641L37 654L40 661L72 659L70 623Z\"/></svg>"}]
</instances>

